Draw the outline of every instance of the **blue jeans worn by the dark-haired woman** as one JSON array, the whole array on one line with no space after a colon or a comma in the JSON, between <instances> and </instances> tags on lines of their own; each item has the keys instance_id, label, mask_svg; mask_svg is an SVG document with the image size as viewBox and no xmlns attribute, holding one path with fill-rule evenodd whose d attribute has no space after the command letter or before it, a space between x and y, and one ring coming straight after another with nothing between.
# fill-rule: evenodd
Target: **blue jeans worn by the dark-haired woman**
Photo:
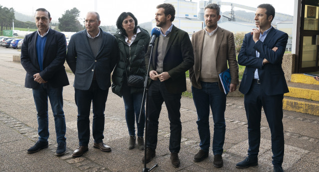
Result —
<instances>
[{"instance_id":1,"label":"blue jeans worn by the dark-haired woman","mask_svg":"<svg viewBox=\"0 0 319 172\"><path fill-rule=\"evenodd\" d=\"M123 83L122 85L122 95L125 105L125 119L128 126L129 135L135 136L135 120L138 129L138 137L144 136L144 127L145 127L145 106L143 102L142 106L142 116L141 123L139 123L141 105L143 100L143 91L131 93L131 88Z\"/></svg>"}]
</instances>

